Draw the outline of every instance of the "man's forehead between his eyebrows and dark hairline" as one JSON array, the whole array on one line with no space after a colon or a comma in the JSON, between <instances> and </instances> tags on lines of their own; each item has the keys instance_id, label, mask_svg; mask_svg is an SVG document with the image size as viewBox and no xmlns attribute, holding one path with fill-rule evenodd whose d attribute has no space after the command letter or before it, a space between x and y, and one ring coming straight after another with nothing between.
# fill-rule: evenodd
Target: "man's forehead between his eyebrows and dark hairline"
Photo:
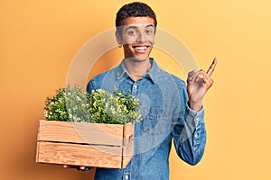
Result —
<instances>
[{"instance_id":1,"label":"man's forehead between his eyebrows and dark hairline","mask_svg":"<svg viewBox=\"0 0 271 180\"><path fill-rule=\"evenodd\" d=\"M139 16L139 17L128 17L124 21L125 26L135 25L135 26L154 26L154 19L149 16Z\"/></svg>"}]
</instances>

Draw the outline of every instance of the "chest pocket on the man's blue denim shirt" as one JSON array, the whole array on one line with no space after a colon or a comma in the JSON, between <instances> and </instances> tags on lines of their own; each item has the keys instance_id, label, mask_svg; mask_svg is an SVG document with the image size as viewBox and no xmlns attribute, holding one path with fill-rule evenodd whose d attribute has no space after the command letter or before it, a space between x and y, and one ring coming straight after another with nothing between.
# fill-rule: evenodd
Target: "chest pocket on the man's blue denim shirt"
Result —
<instances>
[{"instance_id":1,"label":"chest pocket on the man's blue denim shirt","mask_svg":"<svg viewBox=\"0 0 271 180\"><path fill-rule=\"evenodd\" d=\"M144 109L143 131L151 134L161 134L168 129L167 113L163 109Z\"/></svg>"}]
</instances>

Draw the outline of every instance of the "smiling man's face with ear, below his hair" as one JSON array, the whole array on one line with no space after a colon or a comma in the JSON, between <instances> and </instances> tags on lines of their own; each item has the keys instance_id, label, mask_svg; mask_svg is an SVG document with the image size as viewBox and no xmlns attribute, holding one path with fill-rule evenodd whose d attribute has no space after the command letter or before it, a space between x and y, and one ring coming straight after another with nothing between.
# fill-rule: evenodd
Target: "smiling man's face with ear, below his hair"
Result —
<instances>
[{"instance_id":1,"label":"smiling man's face with ear, below his hair","mask_svg":"<svg viewBox=\"0 0 271 180\"><path fill-rule=\"evenodd\" d=\"M129 17L125 20L122 34L117 41L123 44L125 58L142 61L149 58L154 46L154 19L151 17Z\"/></svg>"}]
</instances>

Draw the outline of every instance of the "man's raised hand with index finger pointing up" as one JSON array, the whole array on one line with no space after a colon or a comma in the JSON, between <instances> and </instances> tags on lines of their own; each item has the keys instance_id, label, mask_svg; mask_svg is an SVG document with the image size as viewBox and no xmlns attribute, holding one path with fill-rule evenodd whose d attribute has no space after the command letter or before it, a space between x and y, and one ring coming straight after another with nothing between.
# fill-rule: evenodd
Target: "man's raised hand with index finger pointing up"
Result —
<instances>
[{"instance_id":1,"label":"man's raised hand with index finger pointing up","mask_svg":"<svg viewBox=\"0 0 271 180\"><path fill-rule=\"evenodd\" d=\"M192 110L199 112L204 95L208 91L213 80L210 78L217 65L217 58L214 58L207 72L202 69L199 71L191 71L187 77L187 93L189 97L189 105Z\"/></svg>"}]
</instances>

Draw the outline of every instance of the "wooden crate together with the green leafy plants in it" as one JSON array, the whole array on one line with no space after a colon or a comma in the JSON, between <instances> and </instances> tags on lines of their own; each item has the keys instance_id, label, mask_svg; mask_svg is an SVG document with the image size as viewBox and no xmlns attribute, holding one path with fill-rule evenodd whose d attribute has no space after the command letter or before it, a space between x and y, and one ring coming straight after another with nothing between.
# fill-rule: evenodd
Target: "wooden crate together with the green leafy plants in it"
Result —
<instances>
[{"instance_id":1,"label":"wooden crate together with the green leafy plants in it","mask_svg":"<svg viewBox=\"0 0 271 180\"><path fill-rule=\"evenodd\" d=\"M129 92L60 88L45 101L36 162L124 168L133 157L139 103Z\"/></svg>"}]
</instances>

